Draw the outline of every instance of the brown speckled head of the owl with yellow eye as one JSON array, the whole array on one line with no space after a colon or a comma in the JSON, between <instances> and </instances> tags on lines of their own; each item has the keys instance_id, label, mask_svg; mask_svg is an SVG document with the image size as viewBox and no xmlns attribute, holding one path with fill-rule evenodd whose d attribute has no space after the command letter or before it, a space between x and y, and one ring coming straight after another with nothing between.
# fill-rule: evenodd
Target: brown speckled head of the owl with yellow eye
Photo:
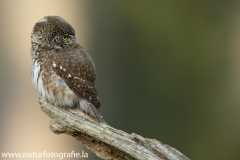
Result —
<instances>
[{"instance_id":1,"label":"brown speckled head of the owl with yellow eye","mask_svg":"<svg viewBox=\"0 0 240 160\"><path fill-rule=\"evenodd\" d=\"M31 40L48 49L74 48L75 31L61 17L47 16L35 24Z\"/></svg>"}]
</instances>

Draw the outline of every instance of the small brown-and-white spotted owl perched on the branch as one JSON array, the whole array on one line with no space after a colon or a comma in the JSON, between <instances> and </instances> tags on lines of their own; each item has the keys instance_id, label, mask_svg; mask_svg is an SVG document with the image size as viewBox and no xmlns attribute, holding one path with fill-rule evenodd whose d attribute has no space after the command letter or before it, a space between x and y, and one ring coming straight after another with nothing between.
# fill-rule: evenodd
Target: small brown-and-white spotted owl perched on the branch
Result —
<instances>
[{"instance_id":1,"label":"small brown-and-white spotted owl perched on the branch","mask_svg":"<svg viewBox=\"0 0 240 160\"><path fill-rule=\"evenodd\" d=\"M48 103L79 108L105 123L94 86L94 63L75 40L73 27L61 17L47 16L35 24L31 34L33 85Z\"/></svg>"}]
</instances>

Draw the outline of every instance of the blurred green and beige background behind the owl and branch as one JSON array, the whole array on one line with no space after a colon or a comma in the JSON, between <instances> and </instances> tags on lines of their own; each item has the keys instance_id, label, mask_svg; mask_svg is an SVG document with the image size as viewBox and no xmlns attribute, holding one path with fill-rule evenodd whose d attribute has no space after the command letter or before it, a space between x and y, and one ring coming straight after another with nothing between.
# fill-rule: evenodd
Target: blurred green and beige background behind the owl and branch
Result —
<instances>
[{"instance_id":1,"label":"blurred green and beige background behind the owl and branch","mask_svg":"<svg viewBox=\"0 0 240 160\"><path fill-rule=\"evenodd\" d=\"M0 152L80 152L49 130L31 82L30 34L46 15L75 28L111 126L192 160L240 159L240 2L0 0ZM0 158L1 159L1 158Z\"/></svg>"}]
</instances>

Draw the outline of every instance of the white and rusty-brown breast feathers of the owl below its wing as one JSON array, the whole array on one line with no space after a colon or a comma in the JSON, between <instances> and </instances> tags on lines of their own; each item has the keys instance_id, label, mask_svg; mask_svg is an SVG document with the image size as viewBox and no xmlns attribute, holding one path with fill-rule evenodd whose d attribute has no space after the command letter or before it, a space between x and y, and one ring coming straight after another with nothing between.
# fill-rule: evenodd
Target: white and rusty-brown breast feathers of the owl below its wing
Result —
<instances>
[{"instance_id":1,"label":"white and rusty-brown breast feathers of the owl below its wing","mask_svg":"<svg viewBox=\"0 0 240 160\"><path fill-rule=\"evenodd\" d=\"M32 65L32 82L47 102L59 107L76 107L79 97L43 61L36 60Z\"/></svg>"}]
</instances>

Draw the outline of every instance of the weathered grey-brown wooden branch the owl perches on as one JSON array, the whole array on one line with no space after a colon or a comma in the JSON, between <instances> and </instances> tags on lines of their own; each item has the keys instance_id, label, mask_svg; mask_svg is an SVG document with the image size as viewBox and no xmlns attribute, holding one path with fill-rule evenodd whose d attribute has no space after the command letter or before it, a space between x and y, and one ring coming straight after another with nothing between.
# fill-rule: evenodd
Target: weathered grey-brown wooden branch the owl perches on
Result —
<instances>
[{"instance_id":1,"label":"weathered grey-brown wooden branch the owl perches on","mask_svg":"<svg viewBox=\"0 0 240 160\"><path fill-rule=\"evenodd\" d=\"M189 160L176 149L155 139L128 134L96 122L76 109L54 107L39 99L41 110L51 118L50 129L76 137L103 159Z\"/></svg>"}]
</instances>

